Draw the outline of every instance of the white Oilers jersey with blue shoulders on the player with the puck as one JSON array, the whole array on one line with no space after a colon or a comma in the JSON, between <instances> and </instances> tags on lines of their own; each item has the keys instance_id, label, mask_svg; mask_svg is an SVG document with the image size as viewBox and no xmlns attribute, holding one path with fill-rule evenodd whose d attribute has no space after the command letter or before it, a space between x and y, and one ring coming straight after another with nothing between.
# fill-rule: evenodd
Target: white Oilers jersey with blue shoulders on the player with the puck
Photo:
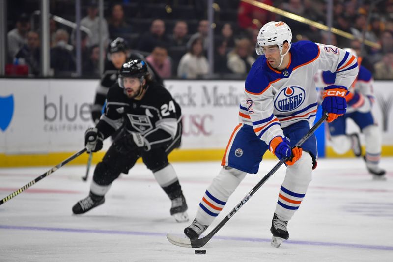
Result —
<instances>
[{"instance_id":1,"label":"white Oilers jersey with blue shoulders on the player with the puck","mask_svg":"<svg viewBox=\"0 0 393 262\"><path fill-rule=\"evenodd\" d=\"M259 57L246 79L239 119L252 125L266 144L284 136L281 127L314 121L318 106L314 75L318 69L336 72L334 84L344 87L358 74L355 57L335 46L299 41L292 44L289 54L289 64L281 72L272 68L265 56Z\"/></svg>"}]
</instances>

